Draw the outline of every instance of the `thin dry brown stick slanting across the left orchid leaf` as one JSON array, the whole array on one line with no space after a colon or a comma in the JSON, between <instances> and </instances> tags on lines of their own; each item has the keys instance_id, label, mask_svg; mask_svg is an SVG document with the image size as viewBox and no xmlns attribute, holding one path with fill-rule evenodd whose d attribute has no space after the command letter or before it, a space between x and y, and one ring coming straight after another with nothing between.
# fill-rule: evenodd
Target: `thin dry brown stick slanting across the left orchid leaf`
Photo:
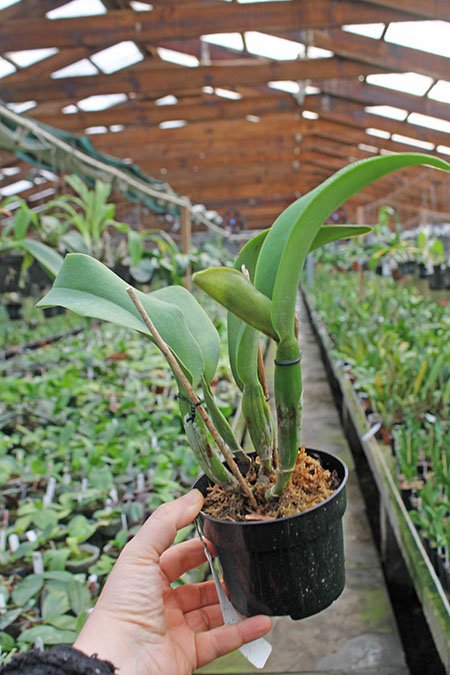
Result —
<instances>
[{"instance_id":1,"label":"thin dry brown stick slanting across the left orchid leaf","mask_svg":"<svg viewBox=\"0 0 450 675\"><path fill-rule=\"evenodd\" d=\"M133 301L136 309L138 310L139 314L142 317L142 320L145 322L145 325L153 335L156 344L158 345L159 349L162 351L164 356L166 357L168 363L170 364L172 370L174 371L175 375L177 378L180 380L181 384L183 385L185 391L187 392L189 399L193 405L196 406L197 412L204 421L208 431L210 432L211 436L213 437L214 441L217 443L217 446L222 453L222 455L225 458L225 461L228 464L228 467L231 471L231 473L234 475L236 480L238 481L239 485L242 488L243 493L247 496L251 506L253 509L257 509L258 505L256 503L256 499L254 495L252 494L250 487L248 483L246 482L244 476L239 470L238 465L234 461L232 453L228 450L226 447L225 443L217 433L216 428L214 427L213 423L211 422L211 419L206 412L205 408L201 404L201 399L197 396L196 392L194 391L191 383L187 379L186 375L183 373L178 361L170 351L169 345L163 340L161 335L159 334L155 324L147 314L147 312L144 309L144 306L142 302L139 300L139 298L136 295L136 291L134 288L129 286L127 288L127 293L130 296L131 300Z\"/></svg>"}]
</instances>

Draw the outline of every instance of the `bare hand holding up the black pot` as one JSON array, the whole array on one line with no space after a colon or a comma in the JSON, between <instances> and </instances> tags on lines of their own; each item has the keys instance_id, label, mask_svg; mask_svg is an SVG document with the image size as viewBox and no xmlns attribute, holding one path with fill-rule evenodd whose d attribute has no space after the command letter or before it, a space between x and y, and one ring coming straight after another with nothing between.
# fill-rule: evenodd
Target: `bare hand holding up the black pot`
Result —
<instances>
[{"instance_id":1,"label":"bare hand holding up the black pot","mask_svg":"<svg viewBox=\"0 0 450 675\"><path fill-rule=\"evenodd\" d=\"M171 588L206 560L198 539L170 548L202 505L192 490L150 516L120 554L76 649L111 661L120 675L190 675L270 630L267 616L224 626L213 581Z\"/></svg>"}]
</instances>

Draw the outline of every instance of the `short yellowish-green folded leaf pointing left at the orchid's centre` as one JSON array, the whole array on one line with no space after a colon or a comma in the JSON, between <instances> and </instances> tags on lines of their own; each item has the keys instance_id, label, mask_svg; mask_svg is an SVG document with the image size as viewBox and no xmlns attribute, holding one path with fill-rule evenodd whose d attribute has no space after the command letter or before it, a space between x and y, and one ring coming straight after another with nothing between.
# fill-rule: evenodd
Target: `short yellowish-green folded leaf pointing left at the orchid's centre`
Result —
<instances>
[{"instance_id":1,"label":"short yellowish-green folded leaf pointing left at the orchid's centre","mask_svg":"<svg viewBox=\"0 0 450 675\"><path fill-rule=\"evenodd\" d=\"M257 291L242 272L231 267L210 267L196 272L192 278L197 286L228 311L274 340L277 339L270 318L270 300Z\"/></svg>"}]
</instances>

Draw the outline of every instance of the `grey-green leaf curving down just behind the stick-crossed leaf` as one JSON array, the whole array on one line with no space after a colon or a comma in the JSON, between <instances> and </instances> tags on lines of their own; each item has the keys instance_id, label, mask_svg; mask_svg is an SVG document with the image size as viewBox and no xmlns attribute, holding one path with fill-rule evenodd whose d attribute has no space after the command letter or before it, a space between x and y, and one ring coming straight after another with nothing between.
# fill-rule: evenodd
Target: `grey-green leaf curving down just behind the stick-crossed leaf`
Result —
<instances>
[{"instance_id":1,"label":"grey-green leaf curving down just behind the stick-crossed leaf","mask_svg":"<svg viewBox=\"0 0 450 675\"><path fill-rule=\"evenodd\" d=\"M203 307L183 286L166 286L154 291L152 297L169 302L183 312L186 324L203 354L205 379L211 382L219 363L220 337Z\"/></svg>"}]
</instances>

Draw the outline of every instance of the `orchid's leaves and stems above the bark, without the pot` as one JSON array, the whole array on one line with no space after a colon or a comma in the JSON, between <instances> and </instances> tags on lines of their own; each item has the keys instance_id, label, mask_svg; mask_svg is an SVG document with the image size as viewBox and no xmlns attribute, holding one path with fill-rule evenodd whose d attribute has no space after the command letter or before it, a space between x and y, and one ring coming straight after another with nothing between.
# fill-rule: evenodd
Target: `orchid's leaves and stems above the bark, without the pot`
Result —
<instances>
[{"instance_id":1,"label":"orchid's leaves and stems above the bark, without the pot","mask_svg":"<svg viewBox=\"0 0 450 675\"><path fill-rule=\"evenodd\" d=\"M228 353L242 392L247 428L261 470L276 472L267 499L277 499L283 493L300 446L302 372L295 310L305 260L328 242L370 231L367 226L323 224L344 201L390 172L420 164L450 171L443 160L418 153L351 164L291 204L270 229L250 239L234 269L212 267L193 277L228 310ZM256 506L238 466L246 455L210 386L218 364L219 336L187 289L169 286L145 294L130 288L94 258L71 254L39 305L61 305L84 316L127 326L155 342L176 378L186 434L200 467L214 483L242 490ZM266 400L261 335L276 344L276 423Z\"/></svg>"}]
</instances>

